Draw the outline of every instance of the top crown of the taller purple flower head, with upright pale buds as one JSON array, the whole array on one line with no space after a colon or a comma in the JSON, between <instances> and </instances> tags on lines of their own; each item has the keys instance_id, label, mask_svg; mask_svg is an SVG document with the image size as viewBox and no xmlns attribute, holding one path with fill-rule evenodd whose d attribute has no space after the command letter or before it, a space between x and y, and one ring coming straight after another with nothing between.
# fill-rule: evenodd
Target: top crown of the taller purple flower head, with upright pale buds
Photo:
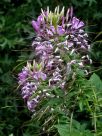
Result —
<instances>
[{"instance_id":1,"label":"top crown of the taller purple flower head, with upright pale buds","mask_svg":"<svg viewBox=\"0 0 102 136\"><path fill-rule=\"evenodd\" d=\"M87 42L88 35L83 30L85 24L73 16L72 7L67 10L65 16L64 7L61 12L59 12L59 7L56 7L54 13L49 11L49 8L47 8L47 11L42 10L37 21L32 21L32 26L37 36L45 40L56 40L60 36L67 36L69 46L73 45L72 43L74 42L75 45L81 48L90 48Z\"/></svg>"}]
</instances>

